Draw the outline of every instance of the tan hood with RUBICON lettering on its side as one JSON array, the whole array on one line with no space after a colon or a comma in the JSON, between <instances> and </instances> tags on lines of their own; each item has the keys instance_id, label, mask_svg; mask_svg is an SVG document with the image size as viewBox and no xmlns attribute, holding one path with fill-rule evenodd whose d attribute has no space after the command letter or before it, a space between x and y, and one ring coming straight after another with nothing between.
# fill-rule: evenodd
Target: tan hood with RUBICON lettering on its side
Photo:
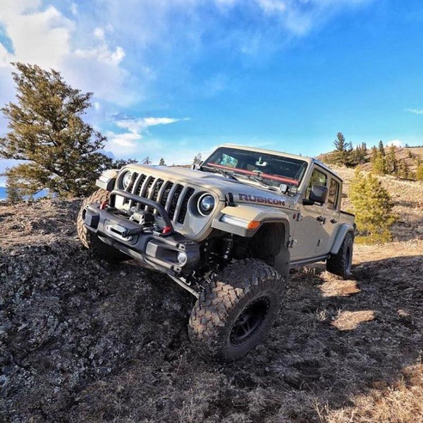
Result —
<instances>
[{"instance_id":1,"label":"tan hood with RUBICON lettering on its side","mask_svg":"<svg viewBox=\"0 0 423 423\"><path fill-rule=\"evenodd\" d=\"M125 168L183 184L197 185L197 187L201 187L204 191L216 193L221 201L226 199L226 194L231 193L234 202L237 204L260 204L290 209L295 207L298 197L298 195L290 197L279 194L276 191L267 190L254 183L246 183L244 180L229 179L219 173L195 171L190 168L147 166L141 164L130 164Z\"/></svg>"}]
</instances>

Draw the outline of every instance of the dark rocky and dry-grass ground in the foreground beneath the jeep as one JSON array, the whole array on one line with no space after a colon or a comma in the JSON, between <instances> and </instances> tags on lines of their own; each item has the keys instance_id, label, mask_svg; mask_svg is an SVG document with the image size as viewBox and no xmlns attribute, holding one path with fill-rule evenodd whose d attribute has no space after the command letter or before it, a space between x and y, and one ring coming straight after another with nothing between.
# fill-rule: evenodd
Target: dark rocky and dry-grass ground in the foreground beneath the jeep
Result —
<instances>
[{"instance_id":1,"label":"dark rocky and dry-grass ground in the foreground beneath the jeep","mask_svg":"<svg viewBox=\"0 0 423 423\"><path fill-rule=\"evenodd\" d=\"M350 281L293 274L264 343L219 366L190 294L90 257L78 207L0 207L0 420L423 422L422 240L357 246Z\"/></svg>"}]
</instances>

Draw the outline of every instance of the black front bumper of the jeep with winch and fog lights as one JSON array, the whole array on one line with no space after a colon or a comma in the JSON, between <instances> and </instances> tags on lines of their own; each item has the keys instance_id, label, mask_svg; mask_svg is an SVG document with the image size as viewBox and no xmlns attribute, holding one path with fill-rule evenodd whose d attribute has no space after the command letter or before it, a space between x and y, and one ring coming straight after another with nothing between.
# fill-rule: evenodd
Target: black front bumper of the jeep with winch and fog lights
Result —
<instances>
[{"instance_id":1,"label":"black front bumper of the jeep with winch and fog lights","mask_svg":"<svg viewBox=\"0 0 423 423\"><path fill-rule=\"evenodd\" d=\"M128 194L120 191L113 193ZM140 197L137 197L137 201L146 203ZM146 204L154 207L155 204L151 203L150 200ZM166 214L164 210L161 213ZM161 218L168 221L167 215ZM166 236L144 232L138 223L129 221L114 207L103 209L100 204L90 204L84 212L84 223L104 243L137 259L144 266L167 274L189 274L200 261L200 245L195 241L173 231Z\"/></svg>"}]
</instances>

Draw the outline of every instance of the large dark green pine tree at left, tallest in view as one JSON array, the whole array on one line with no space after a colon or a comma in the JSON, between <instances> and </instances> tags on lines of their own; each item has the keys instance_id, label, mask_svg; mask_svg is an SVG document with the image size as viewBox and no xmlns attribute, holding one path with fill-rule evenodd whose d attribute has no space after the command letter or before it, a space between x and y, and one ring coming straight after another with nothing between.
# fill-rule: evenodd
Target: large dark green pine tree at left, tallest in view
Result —
<instances>
[{"instance_id":1,"label":"large dark green pine tree at left, tallest in view","mask_svg":"<svg viewBox=\"0 0 423 423\"><path fill-rule=\"evenodd\" d=\"M61 197L87 195L111 164L100 152L106 138L81 118L92 93L70 87L59 72L13 66L18 102L1 109L9 132L0 138L0 158L25 163L8 169L6 176L20 180L23 195L44 188Z\"/></svg>"}]
</instances>

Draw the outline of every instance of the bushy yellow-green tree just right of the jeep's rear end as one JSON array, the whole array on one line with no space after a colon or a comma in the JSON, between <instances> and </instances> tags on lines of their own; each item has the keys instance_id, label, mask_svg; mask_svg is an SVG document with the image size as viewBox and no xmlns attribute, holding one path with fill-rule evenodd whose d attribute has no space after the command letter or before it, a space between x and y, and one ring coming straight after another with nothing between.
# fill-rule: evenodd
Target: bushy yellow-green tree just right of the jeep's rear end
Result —
<instances>
[{"instance_id":1,"label":"bushy yellow-green tree just right of the jeep's rear end","mask_svg":"<svg viewBox=\"0 0 423 423\"><path fill-rule=\"evenodd\" d=\"M364 176L357 168L348 195L359 233L372 243L391 240L391 226L396 221L393 202L379 180L371 173Z\"/></svg>"}]
</instances>

